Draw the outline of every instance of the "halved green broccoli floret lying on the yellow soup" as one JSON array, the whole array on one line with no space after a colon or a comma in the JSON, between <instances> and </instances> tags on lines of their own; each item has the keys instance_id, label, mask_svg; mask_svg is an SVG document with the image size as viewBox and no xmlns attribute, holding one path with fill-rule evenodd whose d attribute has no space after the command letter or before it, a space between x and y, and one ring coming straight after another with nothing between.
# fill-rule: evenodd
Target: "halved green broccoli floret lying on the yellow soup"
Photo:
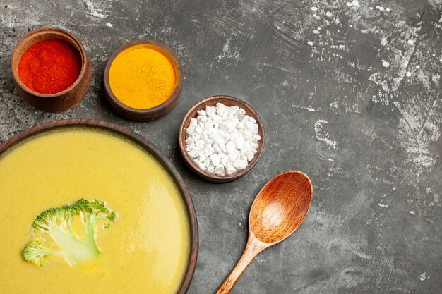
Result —
<instances>
[{"instance_id":1,"label":"halved green broccoli floret lying on the yellow soup","mask_svg":"<svg viewBox=\"0 0 442 294\"><path fill-rule=\"evenodd\" d=\"M74 216L83 221L83 235L78 236L72 228ZM32 223L32 230L49 235L52 242L37 238L23 248L23 258L28 262L44 266L46 257L58 255L71 265L80 264L100 255L95 242L95 225L103 221L103 228L117 220L104 202L98 200L78 200L73 205L48 209L37 216Z\"/></svg>"}]
</instances>

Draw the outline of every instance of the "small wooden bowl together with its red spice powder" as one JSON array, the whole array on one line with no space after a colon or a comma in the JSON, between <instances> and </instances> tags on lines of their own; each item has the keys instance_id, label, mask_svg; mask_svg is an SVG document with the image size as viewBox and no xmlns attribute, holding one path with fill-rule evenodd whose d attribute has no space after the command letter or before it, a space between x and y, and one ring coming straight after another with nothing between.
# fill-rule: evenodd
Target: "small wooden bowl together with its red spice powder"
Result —
<instances>
[{"instance_id":1,"label":"small wooden bowl together with its red spice powder","mask_svg":"<svg viewBox=\"0 0 442 294\"><path fill-rule=\"evenodd\" d=\"M83 45L58 27L42 27L23 36L13 50L11 71L20 97L48 112L76 106L92 80Z\"/></svg>"}]
</instances>

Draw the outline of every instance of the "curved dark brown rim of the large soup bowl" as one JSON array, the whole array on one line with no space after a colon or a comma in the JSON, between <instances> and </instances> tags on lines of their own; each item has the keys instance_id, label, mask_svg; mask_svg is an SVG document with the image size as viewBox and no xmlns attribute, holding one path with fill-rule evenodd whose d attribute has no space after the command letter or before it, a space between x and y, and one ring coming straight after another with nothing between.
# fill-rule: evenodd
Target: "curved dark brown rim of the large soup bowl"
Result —
<instances>
[{"instance_id":1,"label":"curved dark brown rim of the large soup bowl","mask_svg":"<svg viewBox=\"0 0 442 294\"><path fill-rule=\"evenodd\" d=\"M97 121L85 118L71 118L59 121L50 121L48 123L42 123L40 125L35 125L26 130L23 130L22 132L13 135L13 137L10 137L8 140L3 142L0 145L0 159L6 152L8 152L9 149L18 145L20 142L23 142L23 140L27 140L29 137L61 128L82 126L88 128L98 128L102 130L107 130L112 133L117 133L118 135L126 137L132 142L135 142L136 144L143 147L143 149L145 149L147 152L149 152L155 159L157 159L157 161L160 161L160 164L162 164L162 166L174 179L175 184L181 192L181 197L184 200L184 204L186 205L191 233L191 250L189 252L189 262L187 264L186 274L184 275L183 281L181 282L181 286L177 293L185 294L191 284L198 258L198 221L196 219L195 207L193 206L193 201L189 189L187 188L186 183L184 182L184 179L181 177L177 168L175 168L174 164L172 164L172 161L167 159L165 154L163 154L160 149L155 147L155 145L145 139L145 137L134 133L128 128L124 128L121 125L108 123L107 121Z\"/></svg>"}]
</instances>

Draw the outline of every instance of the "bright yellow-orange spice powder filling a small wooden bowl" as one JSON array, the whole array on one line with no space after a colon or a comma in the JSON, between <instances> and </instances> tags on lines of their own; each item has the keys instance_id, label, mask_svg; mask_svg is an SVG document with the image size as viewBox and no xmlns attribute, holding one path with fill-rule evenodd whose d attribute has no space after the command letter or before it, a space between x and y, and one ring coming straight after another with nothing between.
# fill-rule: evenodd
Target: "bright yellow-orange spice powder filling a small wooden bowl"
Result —
<instances>
[{"instance_id":1,"label":"bright yellow-orange spice powder filling a small wooden bowl","mask_svg":"<svg viewBox=\"0 0 442 294\"><path fill-rule=\"evenodd\" d=\"M127 106L149 109L170 97L177 76L162 52L140 44L117 55L109 69L109 84L117 99Z\"/></svg>"}]
</instances>

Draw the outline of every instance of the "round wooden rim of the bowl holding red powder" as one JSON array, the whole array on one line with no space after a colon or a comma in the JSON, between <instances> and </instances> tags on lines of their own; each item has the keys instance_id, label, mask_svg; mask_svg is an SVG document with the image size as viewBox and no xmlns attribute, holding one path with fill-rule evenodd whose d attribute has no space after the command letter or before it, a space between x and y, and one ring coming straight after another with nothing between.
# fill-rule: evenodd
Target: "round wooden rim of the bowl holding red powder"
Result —
<instances>
[{"instance_id":1,"label":"round wooden rim of the bowl holding red powder","mask_svg":"<svg viewBox=\"0 0 442 294\"><path fill-rule=\"evenodd\" d=\"M80 73L78 73L78 77L75 80L75 82L73 82L72 85L67 87L65 90L63 90L61 92L56 92L53 94L42 94L39 92L35 92L34 90L30 90L30 88L28 88L21 81L20 76L18 75L18 63L20 63L20 60L18 60L17 63L15 63L14 61L16 59L18 59L18 53L19 53L18 49L20 47L19 45L22 45L23 43L29 41L30 39L35 38L36 35L47 35L47 34L51 34L51 33L55 34L55 35L62 35L62 36L67 37L68 39L71 39L73 41L74 44L71 44L71 42L67 42L67 43L71 44L71 46L73 46L78 51L78 53L80 53L81 70L80 70ZM66 42L66 40L63 40L63 41ZM26 50L28 50L28 49L26 49ZM74 87L77 87L77 85L80 83L80 80L83 79L83 76L85 75L85 73L87 71L87 66L86 66L87 59L88 59L88 54L87 54L85 48L83 47L83 44L81 44L80 39L78 39L75 35L73 35L73 33L68 32L67 30L61 29L60 27L39 27L35 30L31 30L30 32L27 32L25 35L23 35L23 37L21 37L18 40L16 47L14 47L12 54L11 54L11 72L12 72L13 79L16 81L16 83L28 94L31 94L33 96L40 97L40 98L56 98L56 97L62 96L64 94L70 92L71 90L73 90ZM17 66L14 66L14 64L17 64Z\"/></svg>"}]
</instances>

